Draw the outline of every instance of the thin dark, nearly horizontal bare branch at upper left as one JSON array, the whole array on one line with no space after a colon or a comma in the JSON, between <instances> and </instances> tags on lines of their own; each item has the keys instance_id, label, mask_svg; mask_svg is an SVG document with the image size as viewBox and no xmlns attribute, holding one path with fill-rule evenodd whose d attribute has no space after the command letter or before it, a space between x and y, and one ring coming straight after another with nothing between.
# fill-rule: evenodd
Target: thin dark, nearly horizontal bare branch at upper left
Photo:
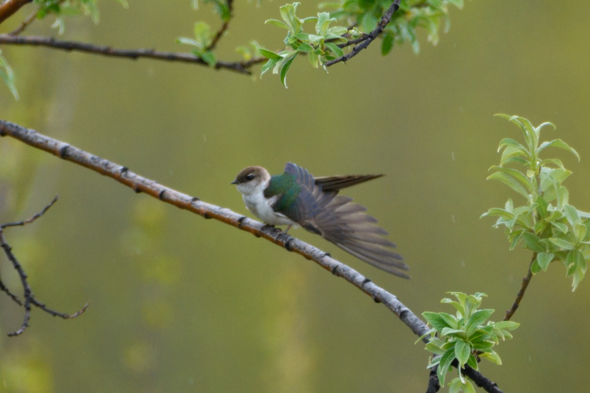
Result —
<instances>
[{"instance_id":1,"label":"thin dark, nearly horizontal bare branch at upper left","mask_svg":"<svg viewBox=\"0 0 590 393\"><path fill-rule=\"evenodd\" d=\"M62 49L64 51L77 51L96 55L122 57L136 60L138 58L150 58L153 60L165 61L180 61L195 63L200 65L209 64L200 57L189 53L182 52L162 52L155 49L117 49L109 46L87 44L86 42L78 41L61 41L53 37L27 36L21 37L19 35L0 34L0 44L9 45L31 45L34 47L46 47L54 49ZM227 62L218 61L213 68L216 70L230 70L240 72L240 74L251 75L250 67L254 64L265 61L264 58L255 58L250 61Z\"/></svg>"}]
</instances>

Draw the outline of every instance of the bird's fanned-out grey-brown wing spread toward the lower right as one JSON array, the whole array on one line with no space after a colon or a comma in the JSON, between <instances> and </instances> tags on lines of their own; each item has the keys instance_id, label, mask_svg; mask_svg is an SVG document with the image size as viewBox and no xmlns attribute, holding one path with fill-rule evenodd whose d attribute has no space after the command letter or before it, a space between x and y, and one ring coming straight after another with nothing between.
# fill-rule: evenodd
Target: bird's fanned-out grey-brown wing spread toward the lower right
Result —
<instances>
[{"instance_id":1,"label":"bird's fanned-out grey-brown wing spread toward the lower right","mask_svg":"<svg viewBox=\"0 0 590 393\"><path fill-rule=\"evenodd\" d=\"M324 191L309 171L296 164L288 163L285 173L296 176L301 185L298 205L304 214L297 220L301 226L379 269L408 278L401 272L408 265L391 250L395 244L383 237L388 233L375 225L377 220L365 213L365 207L337 191Z\"/></svg>"}]
</instances>

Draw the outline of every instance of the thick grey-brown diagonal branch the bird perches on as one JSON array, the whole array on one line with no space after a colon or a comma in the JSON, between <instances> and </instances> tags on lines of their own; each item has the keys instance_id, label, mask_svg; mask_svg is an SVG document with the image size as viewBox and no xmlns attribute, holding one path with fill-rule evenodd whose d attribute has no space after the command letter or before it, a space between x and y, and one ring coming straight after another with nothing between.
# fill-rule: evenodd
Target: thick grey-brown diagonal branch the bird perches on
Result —
<instances>
[{"instance_id":1,"label":"thick grey-brown diagonal branch the bird perches on","mask_svg":"<svg viewBox=\"0 0 590 393\"><path fill-rule=\"evenodd\" d=\"M395 295L375 285L375 283L352 269L352 267L346 266L342 262L333 259L328 253L302 242L299 239L286 236L280 229L257 222L253 219L242 216L241 214L232 212L230 209L203 202L196 197L191 197L187 194L163 186L154 180L139 176L130 171L127 167L94 156L93 154L73 147L70 144L44 136L37 133L35 130L24 128L17 124L9 123L8 121L0 120L0 136L11 136L32 147L47 151L48 153L54 154L54 156L71 161L119 181L119 183L130 187L130 189L136 193L146 193L149 196L170 203L180 209L189 210L190 212L199 214L205 219L219 220L238 229L250 232L254 236L263 237L289 251L296 252L299 255L306 257L306 259L313 260L324 269L332 272L333 275L345 279L352 285L356 286L356 288L362 290L366 295L371 296L375 302L383 303L383 305L392 311L412 332L414 332L415 335L423 336L428 331L426 323L400 302ZM424 342L428 341L427 338L422 340ZM465 374L468 376L473 375L474 378L485 379L480 373L470 368L467 369ZM493 382L487 379L486 381L489 382L489 386L495 386ZM490 392L501 393L499 389L490 390Z\"/></svg>"}]
</instances>

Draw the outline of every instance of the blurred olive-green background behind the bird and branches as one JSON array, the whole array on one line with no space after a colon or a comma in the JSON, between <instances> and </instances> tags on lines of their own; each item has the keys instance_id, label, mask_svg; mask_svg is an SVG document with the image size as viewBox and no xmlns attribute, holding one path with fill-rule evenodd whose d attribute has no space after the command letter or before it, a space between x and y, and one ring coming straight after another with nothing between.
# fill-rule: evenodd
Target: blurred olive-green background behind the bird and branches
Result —
<instances>
[{"instance_id":1,"label":"blurred olive-green background behind the bird and branches","mask_svg":"<svg viewBox=\"0 0 590 393\"><path fill-rule=\"evenodd\" d=\"M211 9L189 0L100 1L101 21L67 22L64 39L120 48L185 51ZM282 3L235 4L221 59L257 39ZM304 3L301 15L313 14ZM2 25L9 31L31 8ZM520 131L494 113L552 121L582 156L562 157L571 203L590 209L590 2L468 1L451 29L421 53L381 57L376 42L346 65L313 70L303 59L284 89L276 75L250 78L168 62L3 46L21 100L5 87L0 118L34 128L142 176L247 213L229 183L248 165L280 173L293 161L316 176L385 173L347 190L391 233L411 280L383 273L304 230L292 235L332 253L415 313L452 312L448 290L486 292L501 319L530 255L508 251L493 219L507 197L486 181L497 143ZM53 34L38 21L26 34ZM258 73L260 68L255 68ZM80 318L34 309L18 338L5 333L22 309L0 297L0 391L6 392L420 392L428 354L409 329L342 279L293 253L214 220L175 209L113 180L12 140L0 139L0 222L35 295ZM2 280L19 289L4 254ZM533 279L501 343L503 366L483 374L506 392L583 391L590 352L590 279L575 293L562 265Z\"/></svg>"}]
</instances>

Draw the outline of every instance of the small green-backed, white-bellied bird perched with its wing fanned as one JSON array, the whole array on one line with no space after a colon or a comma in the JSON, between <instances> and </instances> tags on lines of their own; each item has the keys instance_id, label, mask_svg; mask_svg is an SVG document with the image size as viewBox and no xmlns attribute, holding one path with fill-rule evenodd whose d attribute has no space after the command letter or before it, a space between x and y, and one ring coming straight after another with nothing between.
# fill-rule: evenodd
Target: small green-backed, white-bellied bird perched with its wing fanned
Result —
<instances>
[{"instance_id":1,"label":"small green-backed, white-bellied bird perched with its wing fanned","mask_svg":"<svg viewBox=\"0 0 590 393\"><path fill-rule=\"evenodd\" d=\"M246 208L272 226L303 227L322 236L353 256L396 276L409 278L408 265L385 239L388 233L375 225L377 220L366 208L338 191L377 179L375 175L336 175L313 177L294 163L284 173L271 176L260 166L245 167L231 184L242 194Z\"/></svg>"}]
</instances>

